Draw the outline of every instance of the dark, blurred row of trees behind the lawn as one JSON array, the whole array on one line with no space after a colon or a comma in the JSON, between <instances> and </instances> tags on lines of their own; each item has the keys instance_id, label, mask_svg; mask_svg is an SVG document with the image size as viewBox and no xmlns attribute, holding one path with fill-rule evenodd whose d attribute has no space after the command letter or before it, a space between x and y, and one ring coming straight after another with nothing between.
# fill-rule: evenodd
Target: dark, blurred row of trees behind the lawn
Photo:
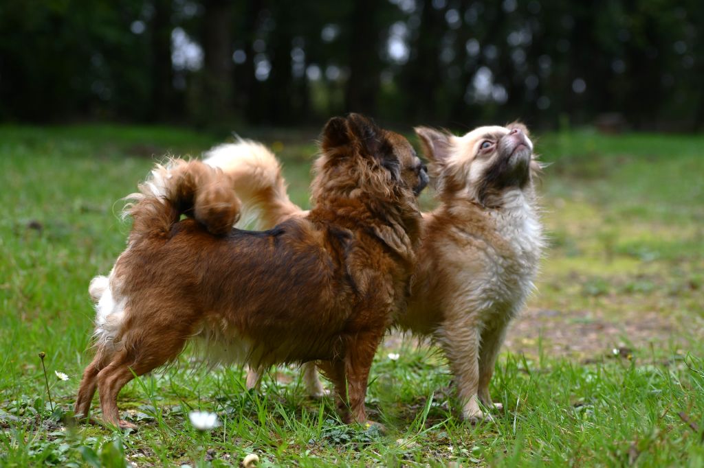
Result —
<instances>
[{"instance_id":1,"label":"dark, blurred row of trees behind the lawn","mask_svg":"<svg viewBox=\"0 0 704 468\"><path fill-rule=\"evenodd\" d=\"M0 120L702 129L704 2L5 0Z\"/></svg>"}]
</instances>

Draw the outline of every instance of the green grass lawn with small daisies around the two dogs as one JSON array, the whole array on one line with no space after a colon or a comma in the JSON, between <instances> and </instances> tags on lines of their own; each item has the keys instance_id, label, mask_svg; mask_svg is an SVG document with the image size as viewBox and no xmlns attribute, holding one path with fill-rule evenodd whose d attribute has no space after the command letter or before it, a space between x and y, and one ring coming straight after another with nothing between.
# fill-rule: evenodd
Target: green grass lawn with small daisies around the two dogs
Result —
<instances>
[{"instance_id":1,"label":"green grass lawn with small daisies around the two dogs","mask_svg":"<svg viewBox=\"0 0 704 468\"><path fill-rule=\"evenodd\" d=\"M307 204L315 134L262 137ZM540 188L551 249L498 363L494 423L461 422L441 353L392 338L367 396L386 434L340 424L293 368L249 394L241 369L210 370L189 351L120 394L138 432L68 424L91 357L87 285L125 246L120 198L163 154L221 138L0 126L0 466L238 466L248 453L260 466L704 464L704 136L539 138L553 163ZM191 410L222 426L199 433Z\"/></svg>"}]
</instances>

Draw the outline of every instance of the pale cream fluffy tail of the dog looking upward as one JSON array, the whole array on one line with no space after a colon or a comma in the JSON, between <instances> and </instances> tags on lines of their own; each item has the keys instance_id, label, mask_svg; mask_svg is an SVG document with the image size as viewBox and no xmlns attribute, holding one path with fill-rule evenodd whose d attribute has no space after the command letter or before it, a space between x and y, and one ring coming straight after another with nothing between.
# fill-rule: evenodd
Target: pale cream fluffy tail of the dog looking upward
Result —
<instances>
[{"instance_id":1,"label":"pale cream fluffy tail of the dog looking upward","mask_svg":"<svg viewBox=\"0 0 704 468\"><path fill-rule=\"evenodd\" d=\"M275 155L261 143L239 139L237 143L216 146L203 160L222 169L242 202L242 216L256 221L255 228L269 229L291 216L306 212L289 200L286 181Z\"/></svg>"}]
</instances>

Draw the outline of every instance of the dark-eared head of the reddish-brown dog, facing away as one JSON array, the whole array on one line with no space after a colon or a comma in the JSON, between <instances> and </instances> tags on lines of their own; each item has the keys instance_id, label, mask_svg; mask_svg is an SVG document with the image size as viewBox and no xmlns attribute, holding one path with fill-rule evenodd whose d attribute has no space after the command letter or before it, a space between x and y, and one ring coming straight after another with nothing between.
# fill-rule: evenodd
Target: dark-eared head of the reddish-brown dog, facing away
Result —
<instances>
[{"instance_id":1,"label":"dark-eared head of the reddish-brown dog, facing away","mask_svg":"<svg viewBox=\"0 0 704 468\"><path fill-rule=\"evenodd\" d=\"M313 200L330 195L377 197L400 202L415 198L428 183L425 164L403 136L363 115L329 119L315 162Z\"/></svg>"}]
</instances>

